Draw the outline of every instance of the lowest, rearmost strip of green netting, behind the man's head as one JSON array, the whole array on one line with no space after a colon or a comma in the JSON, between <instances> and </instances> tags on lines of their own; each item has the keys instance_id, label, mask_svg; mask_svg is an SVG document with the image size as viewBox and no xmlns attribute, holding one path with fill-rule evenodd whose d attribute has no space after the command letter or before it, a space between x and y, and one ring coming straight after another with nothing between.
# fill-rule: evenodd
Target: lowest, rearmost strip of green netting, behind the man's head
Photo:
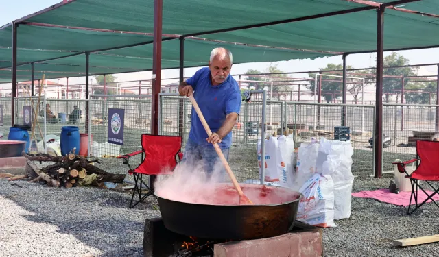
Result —
<instances>
[{"instance_id":1,"label":"lowest, rearmost strip of green netting, behind the man's head","mask_svg":"<svg viewBox=\"0 0 439 257\"><path fill-rule=\"evenodd\" d=\"M222 46L210 41L185 40L185 66L204 66L209 61L211 50L215 46ZM178 68L180 65L180 42L179 40L169 40L162 45L162 69ZM225 45L232 51L234 63L244 62L261 62L290 60L295 58L318 58L331 56L330 54L304 52L304 51L287 51L281 49L270 49L264 47L244 47L240 45ZM10 51L11 49L4 49ZM33 51L32 51L33 52ZM19 51L21 53L21 51ZM90 74L111 74L127 73L136 71L147 71L152 69L152 45L142 45L91 53L90 55ZM19 81L31 79L31 66L21 65L18 68ZM67 58L49 60L34 64L35 76L41 77L45 73L47 78L58 77L79 77L84 76L85 55L71 56ZM2 82L10 82L11 72L0 73Z\"/></svg>"}]
</instances>

